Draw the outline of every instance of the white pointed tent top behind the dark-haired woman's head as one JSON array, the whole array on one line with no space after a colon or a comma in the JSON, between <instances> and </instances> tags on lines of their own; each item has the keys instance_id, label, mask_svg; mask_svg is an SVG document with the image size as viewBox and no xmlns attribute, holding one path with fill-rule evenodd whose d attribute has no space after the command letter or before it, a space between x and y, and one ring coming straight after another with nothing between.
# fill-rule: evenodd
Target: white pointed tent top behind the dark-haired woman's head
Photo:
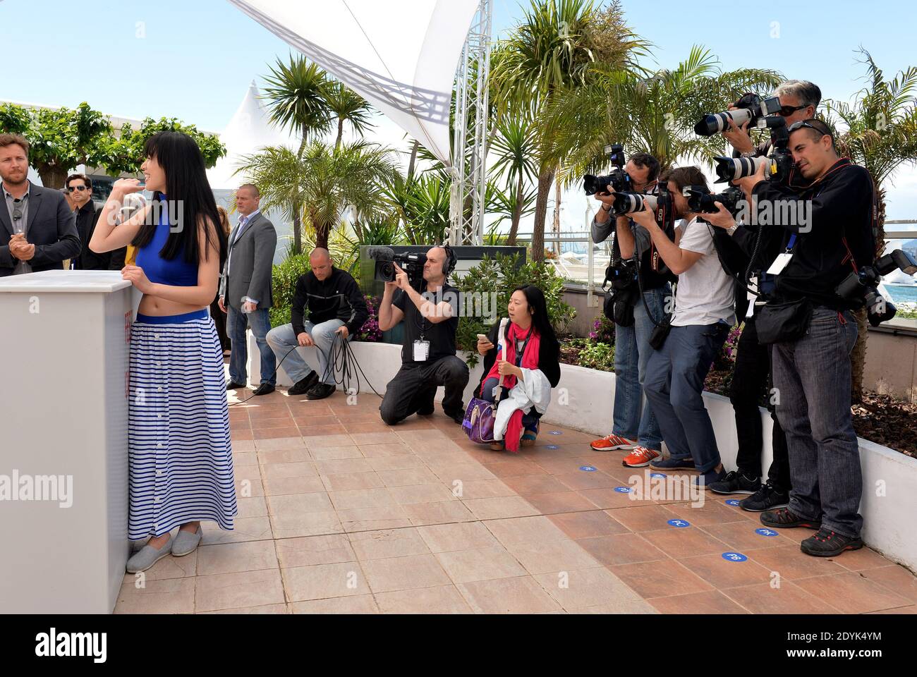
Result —
<instances>
[{"instance_id":1,"label":"white pointed tent top behind the dark-haired woman's head","mask_svg":"<svg viewBox=\"0 0 917 677\"><path fill-rule=\"evenodd\" d=\"M265 146L287 146L296 149L299 142L271 122L271 117L260 101L258 87L254 82L239 104L236 114L229 120L220 134L226 144L226 155L207 170L207 181L211 188L237 188L243 177L235 175L243 156L259 152Z\"/></svg>"}]
</instances>

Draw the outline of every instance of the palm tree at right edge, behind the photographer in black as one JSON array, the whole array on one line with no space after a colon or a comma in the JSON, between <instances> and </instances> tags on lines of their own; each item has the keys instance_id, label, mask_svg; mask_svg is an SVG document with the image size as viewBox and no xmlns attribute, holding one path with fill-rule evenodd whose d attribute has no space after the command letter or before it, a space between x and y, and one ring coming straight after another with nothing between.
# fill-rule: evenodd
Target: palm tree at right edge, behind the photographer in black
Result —
<instances>
[{"instance_id":1,"label":"palm tree at right edge, behind the photographer in black","mask_svg":"<svg viewBox=\"0 0 917 677\"><path fill-rule=\"evenodd\" d=\"M868 84L853 104L828 99L824 102L828 122L834 128L843 123L846 131L835 135L837 150L856 164L866 167L876 185L878 200L876 255L885 249L885 183L902 164L917 162L917 68L898 72L891 80L878 68L867 50L860 50L867 67ZM852 395L863 396L866 364L866 311L856 314L859 335L851 353Z\"/></svg>"}]
</instances>

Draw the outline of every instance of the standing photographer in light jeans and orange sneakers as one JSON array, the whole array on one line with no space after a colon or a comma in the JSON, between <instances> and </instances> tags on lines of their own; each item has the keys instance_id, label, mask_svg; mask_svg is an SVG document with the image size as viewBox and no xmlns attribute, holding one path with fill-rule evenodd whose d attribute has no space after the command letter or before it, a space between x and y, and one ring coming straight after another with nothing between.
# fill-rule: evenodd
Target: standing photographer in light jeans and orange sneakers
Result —
<instances>
[{"instance_id":1,"label":"standing photographer in light jeans and orange sneakers","mask_svg":"<svg viewBox=\"0 0 917 677\"><path fill-rule=\"evenodd\" d=\"M635 153L624 165L624 172L630 177L635 193L649 193L656 187L659 161L649 153ZM644 406L643 382L646 376L646 361L653 351L649 337L653 333L653 319L646 308L661 321L665 316L666 298L671 295L667 279L653 270L649 233L646 228L637 227L629 216L613 217L614 190L595 194L602 205L592 221L592 241L598 244L614 232L613 261L640 260L643 300L632 267L622 272L630 276L631 292L628 294L633 309L633 322L614 326L614 410L612 434L591 442L596 451L625 449L633 451L624 459L631 467L648 465L650 458L643 449L662 449L662 433L653 410ZM646 301L646 305L644 305ZM634 450L637 449L637 450Z\"/></svg>"}]
</instances>

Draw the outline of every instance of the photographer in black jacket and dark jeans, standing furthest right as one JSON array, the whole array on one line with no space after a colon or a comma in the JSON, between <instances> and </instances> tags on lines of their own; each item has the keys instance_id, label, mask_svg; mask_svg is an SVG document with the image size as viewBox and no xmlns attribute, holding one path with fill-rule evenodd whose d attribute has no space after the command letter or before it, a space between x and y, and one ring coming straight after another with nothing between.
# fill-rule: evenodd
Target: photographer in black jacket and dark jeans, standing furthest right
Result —
<instances>
[{"instance_id":1,"label":"photographer in black jacket and dark jeans, standing furthest right","mask_svg":"<svg viewBox=\"0 0 917 677\"><path fill-rule=\"evenodd\" d=\"M863 546L857 513L862 475L850 414L850 351L856 322L850 310L862 299L836 293L850 272L874 258L875 192L866 169L838 157L834 137L821 120L788 129L796 170L809 185L799 191L766 180L767 167L738 180L761 205L784 201L790 214L805 214L782 227L784 252L770 266L776 275L768 304L757 312L761 342L773 343L777 416L790 449L790 505L764 512L767 527L808 527L801 542L809 555L832 557ZM722 212L723 210L721 210ZM722 215L721 215L722 216ZM725 217L723 216L725 219Z\"/></svg>"}]
</instances>

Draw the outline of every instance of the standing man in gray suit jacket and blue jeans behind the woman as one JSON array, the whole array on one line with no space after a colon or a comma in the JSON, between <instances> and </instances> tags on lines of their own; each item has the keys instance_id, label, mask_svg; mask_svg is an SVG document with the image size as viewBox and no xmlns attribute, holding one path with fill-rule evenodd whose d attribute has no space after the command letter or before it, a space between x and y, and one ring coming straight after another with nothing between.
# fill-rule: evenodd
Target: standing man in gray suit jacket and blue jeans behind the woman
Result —
<instances>
[{"instance_id":1,"label":"standing man in gray suit jacket and blue jeans behind the woman","mask_svg":"<svg viewBox=\"0 0 917 677\"><path fill-rule=\"evenodd\" d=\"M251 183L240 185L236 191L239 219L229 234L219 300L220 310L226 313L226 334L231 344L226 390L244 388L249 380L245 330L250 326L261 354L261 383L255 390L257 395L273 393L277 384L277 360L266 338L271 330L268 311L273 305L271 272L277 231L260 213L260 198L257 186Z\"/></svg>"}]
</instances>

